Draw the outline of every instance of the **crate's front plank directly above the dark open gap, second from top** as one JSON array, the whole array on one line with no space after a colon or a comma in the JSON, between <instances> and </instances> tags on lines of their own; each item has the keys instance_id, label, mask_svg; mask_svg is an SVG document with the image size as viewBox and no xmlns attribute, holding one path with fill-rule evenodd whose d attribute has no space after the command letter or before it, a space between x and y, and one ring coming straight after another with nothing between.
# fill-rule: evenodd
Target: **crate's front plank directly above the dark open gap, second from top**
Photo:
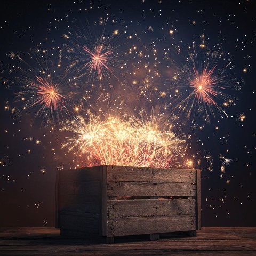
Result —
<instances>
[{"instance_id":1,"label":"crate's front plank directly above the dark open gap, second from top","mask_svg":"<svg viewBox=\"0 0 256 256\"><path fill-rule=\"evenodd\" d=\"M108 182L108 196L195 196L196 185L171 182Z\"/></svg>"}]
</instances>

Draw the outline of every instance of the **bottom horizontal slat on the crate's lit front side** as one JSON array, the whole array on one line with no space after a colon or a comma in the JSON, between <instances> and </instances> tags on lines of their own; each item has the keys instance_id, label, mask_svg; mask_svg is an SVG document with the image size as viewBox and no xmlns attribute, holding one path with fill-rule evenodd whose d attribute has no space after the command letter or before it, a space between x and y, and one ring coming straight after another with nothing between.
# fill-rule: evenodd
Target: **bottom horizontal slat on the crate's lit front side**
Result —
<instances>
[{"instance_id":1,"label":"bottom horizontal slat on the crate's lit front side","mask_svg":"<svg viewBox=\"0 0 256 256\"><path fill-rule=\"evenodd\" d=\"M108 220L107 236L167 233L196 229L196 215L133 217Z\"/></svg>"}]
</instances>

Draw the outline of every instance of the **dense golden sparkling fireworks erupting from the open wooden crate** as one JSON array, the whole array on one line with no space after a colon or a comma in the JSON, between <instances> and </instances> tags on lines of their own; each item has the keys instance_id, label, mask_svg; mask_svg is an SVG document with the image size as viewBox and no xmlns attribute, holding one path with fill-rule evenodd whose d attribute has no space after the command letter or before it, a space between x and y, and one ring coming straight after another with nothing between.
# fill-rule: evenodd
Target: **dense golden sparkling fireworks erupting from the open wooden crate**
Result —
<instances>
[{"instance_id":1,"label":"dense golden sparkling fireworks erupting from the open wooden crate","mask_svg":"<svg viewBox=\"0 0 256 256\"><path fill-rule=\"evenodd\" d=\"M74 133L68 137L69 150L85 155L85 165L125 165L171 167L184 152L181 136L165 127L161 118L141 113L135 116L90 114L77 117L63 127Z\"/></svg>"}]
</instances>

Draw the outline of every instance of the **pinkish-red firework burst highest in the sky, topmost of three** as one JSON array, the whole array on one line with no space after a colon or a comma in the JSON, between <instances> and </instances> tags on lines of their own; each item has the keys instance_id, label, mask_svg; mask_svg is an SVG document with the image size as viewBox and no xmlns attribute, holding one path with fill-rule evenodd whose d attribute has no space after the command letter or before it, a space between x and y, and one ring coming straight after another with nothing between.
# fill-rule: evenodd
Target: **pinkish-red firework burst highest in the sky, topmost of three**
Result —
<instances>
[{"instance_id":1,"label":"pinkish-red firework burst highest in the sky, topmost of three","mask_svg":"<svg viewBox=\"0 0 256 256\"><path fill-rule=\"evenodd\" d=\"M119 58L121 29L115 29L111 33L106 33L106 21L100 20L99 25L94 27L76 26L70 28L69 35L64 35L68 39L66 45L68 58L76 63L76 71L80 77L86 77L90 86L104 82L110 83L110 79L116 77L114 68L117 68ZM99 26L101 27L99 32ZM120 65L121 66L121 65Z\"/></svg>"}]
</instances>

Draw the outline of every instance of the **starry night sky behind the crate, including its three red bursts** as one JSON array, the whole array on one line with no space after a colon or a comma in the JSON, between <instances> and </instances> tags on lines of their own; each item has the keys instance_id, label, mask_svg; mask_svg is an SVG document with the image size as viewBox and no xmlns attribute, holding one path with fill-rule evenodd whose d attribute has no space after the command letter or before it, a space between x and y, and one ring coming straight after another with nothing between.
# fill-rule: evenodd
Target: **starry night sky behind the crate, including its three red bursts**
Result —
<instances>
[{"instance_id":1,"label":"starry night sky behind the crate, including its three red bursts","mask_svg":"<svg viewBox=\"0 0 256 256\"><path fill-rule=\"evenodd\" d=\"M54 226L56 170L88 165L62 147L78 115L143 111L186 140L170 166L202 170L202 226L255 226L255 13L252 0L1 1L0 225Z\"/></svg>"}]
</instances>

